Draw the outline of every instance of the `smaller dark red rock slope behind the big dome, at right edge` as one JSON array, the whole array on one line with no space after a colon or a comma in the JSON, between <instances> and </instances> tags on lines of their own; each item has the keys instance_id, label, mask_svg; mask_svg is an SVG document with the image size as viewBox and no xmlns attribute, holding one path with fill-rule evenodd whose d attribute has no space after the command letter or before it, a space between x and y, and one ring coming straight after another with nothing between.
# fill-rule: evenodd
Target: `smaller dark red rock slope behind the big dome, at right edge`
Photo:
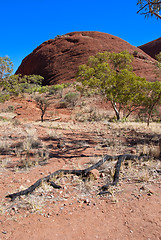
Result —
<instances>
[{"instance_id":1,"label":"smaller dark red rock slope behind the big dome, at right edge","mask_svg":"<svg viewBox=\"0 0 161 240\"><path fill-rule=\"evenodd\" d=\"M143 50L145 53L150 55L152 58L155 58L155 56L161 52L161 37L154 41L151 41L144 45L141 45L138 48Z\"/></svg>"}]
</instances>

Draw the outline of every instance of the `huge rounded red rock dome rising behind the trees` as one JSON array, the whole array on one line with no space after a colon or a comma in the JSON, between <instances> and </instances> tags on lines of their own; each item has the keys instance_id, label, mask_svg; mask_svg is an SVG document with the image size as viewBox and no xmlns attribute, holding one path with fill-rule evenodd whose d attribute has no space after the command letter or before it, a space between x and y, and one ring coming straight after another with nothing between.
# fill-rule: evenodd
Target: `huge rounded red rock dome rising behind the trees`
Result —
<instances>
[{"instance_id":1,"label":"huge rounded red rock dome rising behind the trees","mask_svg":"<svg viewBox=\"0 0 161 240\"><path fill-rule=\"evenodd\" d=\"M141 49L113 35L101 32L72 32L48 40L25 57L16 74L39 74L45 78L44 84L71 82L80 64L97 52L135 53L134 72L155 79L155 60Z\"/></svg>"}]
</instances>

